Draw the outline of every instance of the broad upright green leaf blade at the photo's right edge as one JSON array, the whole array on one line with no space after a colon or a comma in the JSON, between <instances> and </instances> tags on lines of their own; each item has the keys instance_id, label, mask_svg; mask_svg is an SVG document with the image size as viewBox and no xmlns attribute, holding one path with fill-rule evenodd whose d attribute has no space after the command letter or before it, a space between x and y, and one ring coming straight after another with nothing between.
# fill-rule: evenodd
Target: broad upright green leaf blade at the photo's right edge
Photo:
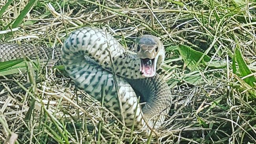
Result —
<instances>
[{"instance_id":1,"label":"broad upright green leaf blade at the photo's right edge","mask_svg":"<svg viewBox=\"0 0 256 144\"><path fill-rule=\"evenodd\" d=\"M240 52L240 46L238 44L236 45L236 49L235 49L235 59L237 61L237 65L238 65L241 76L245 77L245 76L248 76L249 74L252 74L249 67L245 63L245 60L243 59L243 56ZM251 87L254 87L254 83L256 83L256 78L254 76L250 76L248 78L245 78L244 81Z\"/></svg>"}]
</instances>

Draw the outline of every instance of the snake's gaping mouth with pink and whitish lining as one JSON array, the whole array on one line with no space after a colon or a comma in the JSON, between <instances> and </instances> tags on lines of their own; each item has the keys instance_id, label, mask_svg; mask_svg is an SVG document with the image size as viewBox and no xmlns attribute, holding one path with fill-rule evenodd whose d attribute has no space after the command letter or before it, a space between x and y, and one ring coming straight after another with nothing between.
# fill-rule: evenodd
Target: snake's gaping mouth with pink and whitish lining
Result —
<instances>
[{"instance_id":1,"label":"snake's gaping mouth with pink and whitish lining","mask_svg":"<svg viewBox=\"0 0 256 144\"><path fill-rule=\"evenodd\" d=\"M140 68L139 70L142 73L142 76L145 77L152 77L156 74L156 63L155 59L141 59Z\"/></svg>"}]
</instances>

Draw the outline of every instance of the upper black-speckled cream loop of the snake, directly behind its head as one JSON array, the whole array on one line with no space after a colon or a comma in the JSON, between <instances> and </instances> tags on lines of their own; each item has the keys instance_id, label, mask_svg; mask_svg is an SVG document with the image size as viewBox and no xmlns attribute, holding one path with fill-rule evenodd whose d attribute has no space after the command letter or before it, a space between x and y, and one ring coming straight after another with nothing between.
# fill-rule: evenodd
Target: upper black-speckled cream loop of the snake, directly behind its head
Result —
<instances>
[{"instance_id":1,"label":"upper black-speckled cream loop of the snake, directly behind its head","mask_svg":"<svg viewBox=\"0 0 256 144\"><path fill-rule=\"evenodd\" d=\"M97 28L81 28L71 33L62 53L63 63L71 69L84 63L95 63L126 79L144 78L139 72L137 54L124 49L112 35Z\"/></svg>"}]
</instances>

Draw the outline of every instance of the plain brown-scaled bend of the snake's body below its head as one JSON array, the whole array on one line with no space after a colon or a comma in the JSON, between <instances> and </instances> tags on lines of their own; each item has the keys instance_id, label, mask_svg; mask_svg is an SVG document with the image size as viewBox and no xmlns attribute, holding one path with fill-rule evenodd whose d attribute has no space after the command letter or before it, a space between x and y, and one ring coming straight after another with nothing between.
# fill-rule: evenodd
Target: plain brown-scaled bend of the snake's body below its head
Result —
<instances>
[{"instance_id":1,"label":"plain brown-scaled bend of the snake's body below its head","mask_svg":"<svg viewBox=\"0 0 256 144\"><path fill-rule=\"evenodd\" d=\"M150 126L153 126L154 121L157 120L158 123L155 125L157 128L159 122L164 121L164 114L169 112L172 103L171 91L167 83L163 83L164 80L159 74L152 78L127 79L127 81L136 90L136 95L141 96L141 102L146 102L142 105L144 118L150 120Z\"/></svg>"}]
</instances>

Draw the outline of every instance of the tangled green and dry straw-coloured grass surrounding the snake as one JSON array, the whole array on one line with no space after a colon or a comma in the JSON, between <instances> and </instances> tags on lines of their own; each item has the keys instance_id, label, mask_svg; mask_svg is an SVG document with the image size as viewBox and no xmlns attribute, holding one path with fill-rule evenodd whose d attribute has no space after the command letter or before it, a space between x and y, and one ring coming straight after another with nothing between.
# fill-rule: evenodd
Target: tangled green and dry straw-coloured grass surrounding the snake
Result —
<instances>
[{"instance_id":1,"label":"tangled green and dry straw-coloured grass surrounding the snake","mask_svg":"<svg viewBox=\"0 0 256 144\"><path fill-rule=\"evenodd\" d=\"M60 48L72 30L96 26L132 50L135 37L156 35L174 100L150 142L256 143L256 2L98 2L0 0L0 41ZM11 74L0 78L1 143L15 134L17 143L30 144L147 142L135 130L120 135L108 110L57 69L23 63L28 67L13 72L0 66Z\"/></svg>"}]
</instances>

